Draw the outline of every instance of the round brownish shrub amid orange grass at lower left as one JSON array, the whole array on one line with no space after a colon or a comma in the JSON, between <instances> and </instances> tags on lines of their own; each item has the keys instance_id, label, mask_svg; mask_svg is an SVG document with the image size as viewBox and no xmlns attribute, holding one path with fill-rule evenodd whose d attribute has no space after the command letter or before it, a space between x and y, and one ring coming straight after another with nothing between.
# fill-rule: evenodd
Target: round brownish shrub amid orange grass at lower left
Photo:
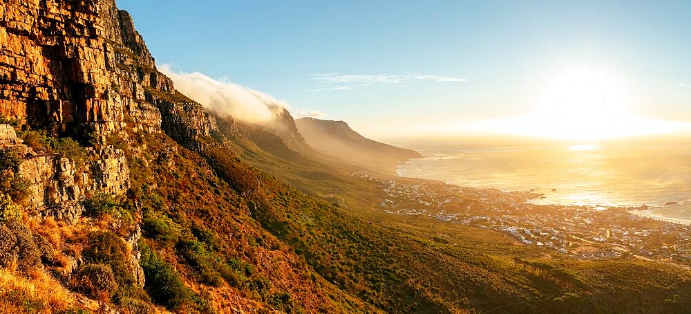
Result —
<instances>
[{"instance_id":1,"label":"round brownish shrub amid orange grass at lower left","mask_svg":"<svg viewBox=\"0 0 691 314\"><path fill-rule=\"evenodd\" d=\"M115 292L117 282L111 266L86 264L77 270L73 287L80 293L107 300Z\"/></svg>"}]
</instances>

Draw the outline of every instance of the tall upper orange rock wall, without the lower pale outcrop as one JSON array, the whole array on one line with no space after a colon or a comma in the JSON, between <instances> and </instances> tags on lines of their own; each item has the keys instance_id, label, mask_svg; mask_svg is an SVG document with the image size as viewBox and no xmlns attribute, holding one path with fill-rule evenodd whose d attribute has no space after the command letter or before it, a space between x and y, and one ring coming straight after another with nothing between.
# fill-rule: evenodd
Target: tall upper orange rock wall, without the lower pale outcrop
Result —
<instances>
[{"instance_id":1,"label":"tall upper orange rock wall, without the lower pale outcrop","mask_svg":"<svg viewBox=\"0 0 691 314\"><path fill-rule=\"evenodd\" d=\"M0 42L0 116L100 140L123 129L208 135L201 107L176 97L113 0L3 3Z\"/></svg>"}]
</instances>

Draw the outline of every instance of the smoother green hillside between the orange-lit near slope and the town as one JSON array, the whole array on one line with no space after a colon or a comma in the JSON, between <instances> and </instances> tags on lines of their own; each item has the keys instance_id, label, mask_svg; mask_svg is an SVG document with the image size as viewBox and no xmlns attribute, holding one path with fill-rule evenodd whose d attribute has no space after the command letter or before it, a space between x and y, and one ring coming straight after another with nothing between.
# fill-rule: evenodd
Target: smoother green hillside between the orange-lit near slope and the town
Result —
<instances>
[{"instance_id":1,"label":"smoother green hillside between the orange-lit near slope and the town","mask_svg":"<svg viewBox=\"0 0 691 314\"><path fill-rule=\"evenodd\" d=\"M318 164L262 160L261 151L241 152L247 162L321 196L265 177L252 192L253 218L325 279L384 311L614 311L605 303L609 298L626 304L627 312L676 311L686 301L674 295L690 292L687 270L634 260L574 261L498 232L386 215L375 207L386 196L369 181ZM233 172L219 155L212 162L219 174ZM306 169L322 175L306 180ZM330 204L334 190L343 203ZM605 270L613 273L605 276ZM676 281L650 284L632 273Z\"/></svg>"}]
</instances>

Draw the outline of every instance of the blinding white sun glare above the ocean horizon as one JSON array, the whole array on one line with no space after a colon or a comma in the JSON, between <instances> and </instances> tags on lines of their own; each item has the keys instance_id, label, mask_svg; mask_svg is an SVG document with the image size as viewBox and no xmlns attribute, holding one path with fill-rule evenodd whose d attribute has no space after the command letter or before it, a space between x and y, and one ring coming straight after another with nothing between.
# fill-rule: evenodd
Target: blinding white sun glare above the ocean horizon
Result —
<instances>
[{"instance_id":1,"label":"blinding white sun glare above the ocean horizon","mask_svg":"<svg viewBox=\"0 0 691 314\"><path fill-rule=\"evenodd\" d=\"M522 136L591 141L672 133L681 124L636 118L621 82L598 71L570 71L545 86L536 111L520 118L477 122L476 129Z\"/></svg>"}]
</instances>

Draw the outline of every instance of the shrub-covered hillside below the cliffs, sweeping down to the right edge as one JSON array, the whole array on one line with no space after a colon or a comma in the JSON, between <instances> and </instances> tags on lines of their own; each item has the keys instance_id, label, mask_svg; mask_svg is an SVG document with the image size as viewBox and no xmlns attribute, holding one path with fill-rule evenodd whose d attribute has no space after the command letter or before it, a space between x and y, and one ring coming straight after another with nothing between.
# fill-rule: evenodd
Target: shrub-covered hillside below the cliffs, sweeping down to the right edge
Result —
<instances>
[{"instance_id":1,"label":"shrub-covered hillside below the cliffs, sweeping down to the right edge","mask_svg":"<svg viewBox=\"0 0 691 314\"><path fill-rule=\"evenodd\" d=\"M164 135L127 138L138 143L111 138L131 168L125 196L91 195L73 225L26 214L0 223L11 237L35 239L17 246L10 265L21 267L8 276L71 291L53 299L28 288L27 304L68 311L86 308L75 300L88 297L91 308L134 313L654 313L689 305L688 270L576 261L500 232L385 214L376 205L386 194L372 181L292 163L241 138L205 138L202 153ZM143 288L129 264L135 248L122 240L138 225Z\"/></svg>"}]
</instances>

